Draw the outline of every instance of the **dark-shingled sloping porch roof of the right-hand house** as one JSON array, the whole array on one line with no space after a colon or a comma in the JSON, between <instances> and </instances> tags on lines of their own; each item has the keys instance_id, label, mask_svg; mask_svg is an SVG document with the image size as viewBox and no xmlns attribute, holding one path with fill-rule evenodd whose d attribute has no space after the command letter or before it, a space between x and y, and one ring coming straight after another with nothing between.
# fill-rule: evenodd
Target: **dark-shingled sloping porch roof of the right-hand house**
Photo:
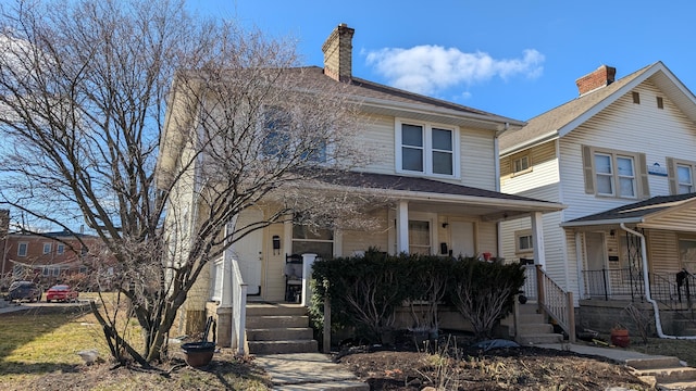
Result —
<instances>
[{"instance_id":1,"label":"dark-shingled sloping porch roof of the right-hand house","mask_svg":"<svg viewBox=\"0 0 696 391\"><path fill-rule=\"evenodd\" d=\"M621 223L648 227L651 219L664 217L666 215L671 215L673 219L680 218L681 213L679 213L679 211L683 209L696 209L696 193L652 197L645 201L568 220L562 223L561 227L616 225ZM691 218L688 216L684 217ZM694 226L692 220L687 224L696 230L696 226Z\"/></svg>"}]
</instances>

